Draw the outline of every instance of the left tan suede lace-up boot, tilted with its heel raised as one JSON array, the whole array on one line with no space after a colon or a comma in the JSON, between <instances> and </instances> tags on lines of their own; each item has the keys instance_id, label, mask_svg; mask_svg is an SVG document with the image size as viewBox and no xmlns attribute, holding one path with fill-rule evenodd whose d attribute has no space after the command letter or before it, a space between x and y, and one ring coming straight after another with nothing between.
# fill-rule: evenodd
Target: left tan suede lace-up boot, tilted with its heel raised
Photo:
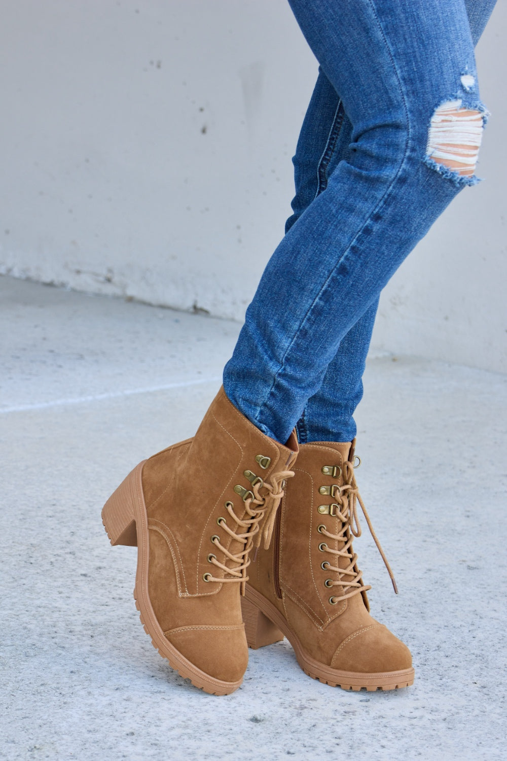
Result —
<instances>
[{"instance_id":1,"label":"left tan suede lace-up boot, tilted with its heel raised","mask_svg":"<svg viewBox=\"0 0 507 761\"><path fill-rule=\"evenodd\" d=\"M114 544L138 546L134 597L154 646L182 677L226 695L248 648L240 591L267 545L296 436L278 444L220 389L195 437L139 463L103 508Z\"/></svg>"}]
</instances>

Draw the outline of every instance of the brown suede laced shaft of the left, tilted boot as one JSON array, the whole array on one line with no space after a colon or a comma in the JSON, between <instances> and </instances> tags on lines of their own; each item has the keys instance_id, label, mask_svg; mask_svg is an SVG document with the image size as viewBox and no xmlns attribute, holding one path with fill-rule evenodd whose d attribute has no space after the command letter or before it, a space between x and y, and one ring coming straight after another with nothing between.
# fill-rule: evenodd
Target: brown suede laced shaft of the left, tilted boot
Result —
<instances>
[{"instance_id":1,"label":"brown suede laced shaft of the left, tilted boot","mask_svg":"<svg viewBox=\"0 0 507 761\"><path fill-rule=\"evenodd\" d=\"M237 567L230 556L245 549L252 513L269 508L296 451L295 436L287 447L268 438L220 389L194 438L144 463L148 521L171 548L182 596L220 591L209 579L230 578L220 565Z\"/></svg>"}]
</instances>

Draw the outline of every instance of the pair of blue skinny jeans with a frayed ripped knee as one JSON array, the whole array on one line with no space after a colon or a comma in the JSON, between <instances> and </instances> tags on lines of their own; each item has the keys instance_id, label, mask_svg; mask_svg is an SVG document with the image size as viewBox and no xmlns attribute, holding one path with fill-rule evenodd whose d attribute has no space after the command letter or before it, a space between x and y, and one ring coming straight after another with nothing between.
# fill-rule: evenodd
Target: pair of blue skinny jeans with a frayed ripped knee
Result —
<instances>
[{"instance_id":1,"label":"pair of blue skinny jeans with a frayed ripped knee","mask_svg":"<svg viewBox=\"0 0 507 761\"><path fill-rule=\"evenodd\" d=\"M319 66L286 234L223 385L284 443L351 441L382 288L458 191L427 154L442 103L486 111L474 45L495 0L290 0Z\"/></svg>"}]
</instances>

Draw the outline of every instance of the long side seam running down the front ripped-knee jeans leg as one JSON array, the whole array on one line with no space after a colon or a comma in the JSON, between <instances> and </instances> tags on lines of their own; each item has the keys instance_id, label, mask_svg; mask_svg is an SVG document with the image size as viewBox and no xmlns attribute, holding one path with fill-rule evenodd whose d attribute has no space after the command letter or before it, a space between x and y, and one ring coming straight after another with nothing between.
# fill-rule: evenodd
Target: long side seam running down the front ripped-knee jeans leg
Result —
<instances>
[{"instance_id":1,"label":"long side seam running down the front ripped-knee jeans leg","mask_svg":"<svg viewBox=\"0 0 507 761\"><path fill-rule=\"evenodd\" d=\"M265 406L265 404L268 402L271 394L274 391L274 388L277 385L277 378L280 375L280 372L284 370L285 363L286 363L286 360L287 360L287 355L289 354L290 349L292 349L293 344L296 341L296 336L298 335L300 330L303 328L304 324L306 323L306 320L308 320L309 315L312 313L312 310L315 307L315 304L317 303L318 299L321 298L321 296L325 292L326 288L328 288L328 283L330 282L332 276L334 275L334 272L336 272L338 267L344 261L345 257L347 256L347 253L349 253L350 249L353 247L353 244L356 243L356 240L360 237L360 234L363 233L364 229L366 228L366 225L369 223L369 221L371 221L372 216L375 215L375 213L379 213L379 209L381 209L382 206L385 205L385 202L386 202L388 196L391 194L391 190L392 190L393 186L395 185L396 181L400 177L401 170L403 169L404 164L405 164L405 162L407 160L407 154L409 152L409 145L410 145L410 141L411 141L411 130L410 130L410 118L409 118L409 114L408 114L407 101L405 99L404 88L402 87L402 84L401 84L401 76L400 76L400 72L398 72L398 67L396 65L395 56L393 56L393 53L392 53L392 50L391 50L391 46L388 43L388 39L385 36L384 30L382 29L382 24L380 23L379 16L377 15L377 12L375 10L375 6L373 4L373 0L368 0L368 2L369 2L370 7L372 8L372 14L374 15L375 20L376 20L376 22L377 22L377 24L379 26L379 31L382 34L382 39L384 40L385 47L388 50L388 55L389 55L389 57L391 59L391 65L392 65L393 70L395 72L395 76L396 76L396 78L398 80L398 88L399 88L399 91L400 91L401 101L404 104L405 123L407 125L407 136L406 136L406 139L405 139L403 158L401 158L401 161L400 161L400 164L398 166L398 170L397 170L397 172L395 174L395 177L392 178L391 183L389 183L389 186L385 190L385 193L383 194L382 198L379 199L379 202L375 206L375 209L372 209L372 211L370 212L368 219L366 219L366 221L363 224L363 227L359 231L357 231L356 236L353 238L353 240L350 242L349 246L347 246L347 249L342 254L342 256L340 258L340 261L337 262L337 264L333 267L333 269L329 273L328 278L326 279L324 285L322 285L322 288L320 289L320 291L318 291L318 295L315 297L315 299L312 301L312 304L309 306L308 310L306 311L306 314L303 317L303 320L301 320L301 323L299 324L298 328L294 331L293 338L290 341L290 344L287 346L287 349L285 350L284 356L283 356L283 358L282 358L282 360L280 362L280 367L278 368L276 373L274 373L273 382L271 384L271 388L268 391L268 393L266 394L264 401L262 403L260 403L258 408L257 408L257 415L255 416L255 423L256 424L259 421L259 413L261 412L262 407Z\"/></svg>"}]
</instances>

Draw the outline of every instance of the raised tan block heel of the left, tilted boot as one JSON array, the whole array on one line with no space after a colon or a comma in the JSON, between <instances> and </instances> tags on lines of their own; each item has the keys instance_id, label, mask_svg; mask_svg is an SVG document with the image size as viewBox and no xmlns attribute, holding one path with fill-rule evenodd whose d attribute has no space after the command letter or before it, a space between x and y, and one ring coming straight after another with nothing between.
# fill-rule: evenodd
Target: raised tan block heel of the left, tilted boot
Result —
<instances>
[{"instance_id":1,"label":"raised tan block heel of the left, tilted boot","mask_svg":"<svg viewBox=\"0 0 507 761\"><path fill-rule=\"evenodd\" d=\"M135 527L135 502L138 498L143 463L128 473L128 476L112 493L102 510L102 522L113 546L124 544L138 546Z\"/></svg>"}]
</instances>

